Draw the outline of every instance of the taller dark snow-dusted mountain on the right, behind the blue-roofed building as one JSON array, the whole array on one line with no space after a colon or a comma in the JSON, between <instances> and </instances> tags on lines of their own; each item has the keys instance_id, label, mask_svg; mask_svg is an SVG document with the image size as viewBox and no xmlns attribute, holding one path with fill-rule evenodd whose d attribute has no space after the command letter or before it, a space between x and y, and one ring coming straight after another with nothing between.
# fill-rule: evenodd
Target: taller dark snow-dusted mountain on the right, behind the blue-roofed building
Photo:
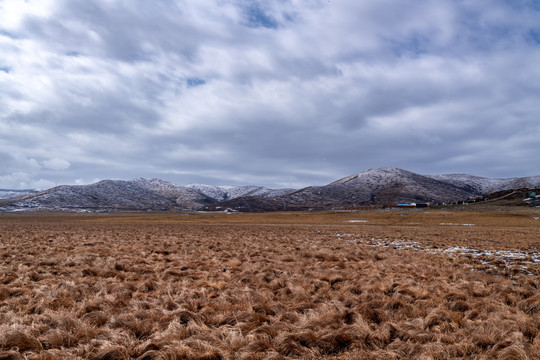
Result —
<instances>
[{"instance_id":1,"label":"taller dark snow-dusted mountain on the right, behind the blue-roofed building","mask_svg":"<svg viewBox=\"0 0 540 360\"><path fill-rule=\"evenodd\" d=\"M400 202L449 203L493 192L493 189L499 187L538 187L539 180L540 177L486 179L469 175L428 176L386 167L370 169L325 186L310 186L271 199L238 198L220 206L240 211L277 211L391 205Z\"/></svg>"}]
</instances>

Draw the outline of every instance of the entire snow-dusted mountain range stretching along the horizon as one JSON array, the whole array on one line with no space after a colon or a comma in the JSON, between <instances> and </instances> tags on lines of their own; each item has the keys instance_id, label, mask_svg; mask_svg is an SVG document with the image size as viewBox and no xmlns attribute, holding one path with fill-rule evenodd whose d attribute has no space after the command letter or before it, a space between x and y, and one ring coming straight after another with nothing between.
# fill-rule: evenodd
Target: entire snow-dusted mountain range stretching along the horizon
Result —
<instances>
[{"instance_id":1,"label":"entire snow-dusted mountain range stretching along the horizon","mask_svg":"<svg viewBox=\"0 0 540 360\"><path fill-rule=\"evenodd\" d=\"M450 203L517 188L540 188L540 176L496 179L465 174L420 175L387 167L303 189L181 186L144 178L62 185L40 192L0 189L0 211L325 210L401 202Z\"/></svg>"}]
</instances>

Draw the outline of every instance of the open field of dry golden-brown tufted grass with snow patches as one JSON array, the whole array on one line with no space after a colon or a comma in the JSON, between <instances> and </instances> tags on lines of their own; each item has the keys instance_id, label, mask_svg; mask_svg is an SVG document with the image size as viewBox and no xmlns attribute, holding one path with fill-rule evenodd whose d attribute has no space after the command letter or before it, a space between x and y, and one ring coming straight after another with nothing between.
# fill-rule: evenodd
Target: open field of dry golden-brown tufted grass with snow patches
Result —
<instances>
[{"instance_id":1,"label":"open field of dry golden-brown tufted grass with snow patches","mask_svg":"<svg viewBox=\"0 0 540 360\"><path fill-rule=\"evenodd\" d=\"M540 359L540 211L0 216L2 359Z\"/></svg>"}]
</instances>

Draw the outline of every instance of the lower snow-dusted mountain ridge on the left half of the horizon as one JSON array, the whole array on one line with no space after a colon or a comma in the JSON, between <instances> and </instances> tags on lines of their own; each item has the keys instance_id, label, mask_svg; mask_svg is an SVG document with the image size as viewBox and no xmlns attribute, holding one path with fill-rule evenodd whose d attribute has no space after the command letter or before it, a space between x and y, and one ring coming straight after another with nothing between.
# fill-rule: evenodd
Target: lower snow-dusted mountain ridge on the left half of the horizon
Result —
<instances>
[{"instance_id":1,"label":"lower snow-dusted mountain ridge on the left half of the horizon","mask_svg":"<svg viewBox=\"0 0 540 360\"><path fill-rule=\"evenodd\" d=\"M199 210L240 196L271 197L288 192L290 189L261 186L181 186L160 179L103 180L3 199L0 211Z\"/></svg>"}]
</instances>

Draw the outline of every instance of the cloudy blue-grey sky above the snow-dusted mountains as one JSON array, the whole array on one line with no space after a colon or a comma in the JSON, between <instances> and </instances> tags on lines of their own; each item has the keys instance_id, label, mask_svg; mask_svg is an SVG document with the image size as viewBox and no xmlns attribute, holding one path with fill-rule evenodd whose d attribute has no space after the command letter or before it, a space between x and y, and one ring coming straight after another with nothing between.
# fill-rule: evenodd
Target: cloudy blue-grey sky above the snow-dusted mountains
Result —
<instances>
[{"instance_id":1,"label":"cloudy blue-grey sky above the snow-dusted mountains","mask_svg":"<svg viewBox=\"0 0 540 360\"><path fill-rule=\"evenodd\" d=\"M0 188L540 175L540 0L0 0Z\"/></svg>"}]
</instances>

